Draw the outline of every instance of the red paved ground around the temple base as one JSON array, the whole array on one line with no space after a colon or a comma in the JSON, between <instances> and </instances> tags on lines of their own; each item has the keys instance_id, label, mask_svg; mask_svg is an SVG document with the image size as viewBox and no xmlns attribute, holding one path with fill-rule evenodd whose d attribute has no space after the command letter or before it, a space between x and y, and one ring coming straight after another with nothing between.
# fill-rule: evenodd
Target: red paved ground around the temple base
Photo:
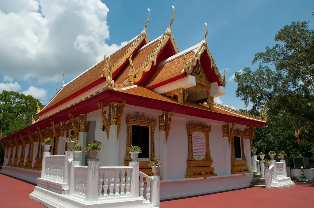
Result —
<instances>
[{"instance_id":1,"label":"red paved ground around the temple base","mask_svg":"<svg viewBox=\"0 0 314 208\"><path fill-rule=\"evenodd\" d=\"M34 185L0 174L0 207L45 208L28 195ZM160 202L161 208L241 207L308 208L314 207L314 184L297 183L282 189L247 188ZM300 198L300 199L296 199ZM301 200L302 199L302 200Z\"/></svg>"}]
</instances>

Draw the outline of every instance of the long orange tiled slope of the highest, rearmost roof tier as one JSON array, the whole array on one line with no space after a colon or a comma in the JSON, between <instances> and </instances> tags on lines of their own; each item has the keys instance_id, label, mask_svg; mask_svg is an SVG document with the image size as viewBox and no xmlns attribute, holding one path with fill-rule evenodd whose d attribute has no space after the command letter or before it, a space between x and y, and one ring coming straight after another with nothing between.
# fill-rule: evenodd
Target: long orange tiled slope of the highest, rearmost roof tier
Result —
<instances>
[{"instance_id":1,"label":"long orange tiled slope of the highest, rearmost roof tier","mask_svg":"<svg viewBox=\"0 0 314 208\"><path fill-rule=\"evenodd\" d=\"M132 45L133 42L127 44L126 46L122 47L115 53L113 53L110 57L111 63L116 63L125 51ZM108 59L107 59L108 60ZM94 81L98 80L101 75L103 75L104 69L104 61L101 61L99 64L95 65L92 69L86 71L84 74L67 84L62 88L59 93L51 99L50 102L44 107L45 109L57 104L58 102L62 101L63 99L67 98L68 96L72 95L73 93L81 90L85 86L93 83Z\"/></svg>"}]
</instances>

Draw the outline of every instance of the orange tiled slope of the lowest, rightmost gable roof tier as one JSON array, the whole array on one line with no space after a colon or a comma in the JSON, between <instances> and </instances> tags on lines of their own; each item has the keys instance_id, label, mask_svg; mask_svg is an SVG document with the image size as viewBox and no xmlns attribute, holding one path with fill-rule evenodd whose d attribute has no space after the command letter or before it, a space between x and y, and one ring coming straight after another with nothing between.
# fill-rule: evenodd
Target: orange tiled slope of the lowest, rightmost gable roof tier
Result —
<instances>
[{"instance_id":1,"label":"orange tiled slope of the lowest, rightmost gable roof tier","mask_svg":"<svg viewBox=\"0 0 314 208\"><path fill-rule=\"evenodd\" d=\"M187 62L190 62L194 56L194 52L190 51L186 54ZM153 86L162 81L169 80L175 76L181 75L181 71L184 69L184 54L177 57L174 60L166 62L163 65L159 65L154 75L147 82L145 87Z\"/></svg>"}]
</instances>

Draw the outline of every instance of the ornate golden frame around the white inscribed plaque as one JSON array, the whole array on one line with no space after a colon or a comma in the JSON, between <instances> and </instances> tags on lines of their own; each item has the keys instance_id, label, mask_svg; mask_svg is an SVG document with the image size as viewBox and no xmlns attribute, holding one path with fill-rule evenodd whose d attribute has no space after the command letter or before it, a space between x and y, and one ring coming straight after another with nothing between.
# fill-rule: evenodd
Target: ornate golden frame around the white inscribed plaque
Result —
<instances>
[{"instance_id":1,"label":"ornate golden frame around the white inscribed plaque","mask_svg":"<svg viewBox=\"0 0 314 208\"><path fill-rule=\"evenodd\" d=\"M192 143L192 134L193 132L203 132L206 134L205 137L205 157L202 160L196 160L193 158L193 143ZM210 126L199 122L194 125L192 123L187 124L187 138L188 138L188 157L187 157L187 175L185 178L200 178L200 177L209 177L216 176L214 173L214 168L211 167L213 160L210 157L209 152L209 134L211 132Z\"/></svg>"}]
</instances>

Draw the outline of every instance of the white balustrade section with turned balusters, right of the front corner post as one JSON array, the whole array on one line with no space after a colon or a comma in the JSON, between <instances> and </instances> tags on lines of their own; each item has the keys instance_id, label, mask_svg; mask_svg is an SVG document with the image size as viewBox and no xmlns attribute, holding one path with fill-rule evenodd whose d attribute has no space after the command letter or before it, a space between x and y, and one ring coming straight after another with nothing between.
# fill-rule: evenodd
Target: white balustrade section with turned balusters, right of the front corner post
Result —
<instances>
[{"instance_id":1,"label":"white balustrade section with turned balusters, right of the front corner post","mask_svg":"<svg viewBox=\"0 0 314 208\"><path fill-rule=\"evenodd\" d=\"M98 200L108 198L131 198L132 167L100 167Z\"/></svg>"}]
</instances>

